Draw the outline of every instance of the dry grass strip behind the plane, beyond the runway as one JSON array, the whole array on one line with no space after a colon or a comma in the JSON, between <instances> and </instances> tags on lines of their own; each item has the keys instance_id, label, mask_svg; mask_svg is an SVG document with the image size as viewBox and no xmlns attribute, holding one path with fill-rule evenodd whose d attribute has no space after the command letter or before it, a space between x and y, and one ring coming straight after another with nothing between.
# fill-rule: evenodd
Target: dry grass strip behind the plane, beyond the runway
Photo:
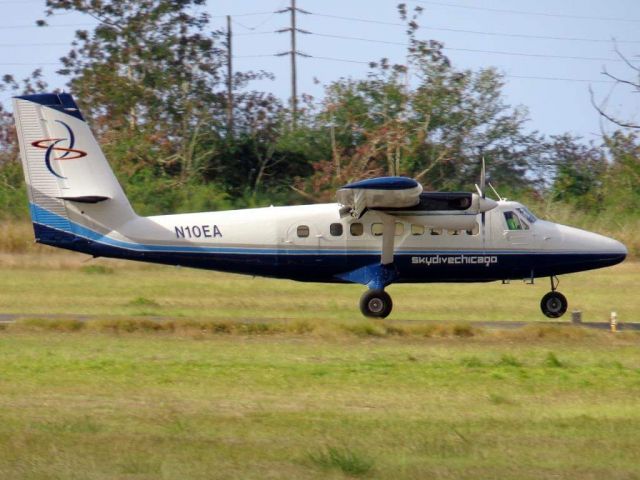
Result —
<instances>
[{"instance_id":1,"label":"dry grass strip behind the plane, beyond the runway","mask_svg":"<svg viewBox=\"0 0 640 480\"><path fill-rule=\"evenodd\" d=\"M360 285L324 285L162 267L53 249L41 255L0 255L0 312L89 315L152 315L221 320L359 321ZM640 263L561 277L560 291L583 321L640 321L640 295L633 294ZM393 320L546 320L540 299L548 279L535 285L392 285Z\"/></svg>"}]
</instances>

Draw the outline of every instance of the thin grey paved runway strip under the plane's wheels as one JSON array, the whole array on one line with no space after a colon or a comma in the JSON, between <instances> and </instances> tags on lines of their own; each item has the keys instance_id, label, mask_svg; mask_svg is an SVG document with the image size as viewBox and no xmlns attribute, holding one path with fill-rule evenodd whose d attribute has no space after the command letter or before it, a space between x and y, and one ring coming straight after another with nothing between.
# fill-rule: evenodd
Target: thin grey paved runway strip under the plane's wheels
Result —
<instances>
[{"instance_id":1,"label":"thin grey paved runway strip under the plane's wheels","mask_svg":"<svg viewBox=\"0 0 640 480\"><path fill-rule=\"evenodd\" d=\"M2 323L14 323L16 320L21 318L45 318L51 320L79 320L81 322L85 322L88 320L98 320L98 319L109 319L109 318L121 318L121 316L116 315L76 315L76 314L28 314L28 313L0 313L0 324ZM158 322L175 320L173 317L161 317L161 316L145 316L140 317L146 320L154 320ZM243 318L237 320L238 322L244 323L257 323L257 322L278 322L278 321L294 321L294 318ZM465 322L465 320L461 320ZM385 320L388 323L423 323L423 324L446 324L446 323L460 323L461 321L440 321L440 320ZM468 322L469 324L488 328L491 330L513 330L516 328L522 328L527 325L557 325L561 327L569 327L569 326L580 326L585 328L597 328L601 330L609 330L611 328L609 322L580 322L580 323L571 323L570 320L566 321L552 321L552 320L541 320L539 322L513 322L513 321L502 321L502 322ZM640 323L618 323L618 330L634 330L640 331Z\"/></svg>"}]
</instances>

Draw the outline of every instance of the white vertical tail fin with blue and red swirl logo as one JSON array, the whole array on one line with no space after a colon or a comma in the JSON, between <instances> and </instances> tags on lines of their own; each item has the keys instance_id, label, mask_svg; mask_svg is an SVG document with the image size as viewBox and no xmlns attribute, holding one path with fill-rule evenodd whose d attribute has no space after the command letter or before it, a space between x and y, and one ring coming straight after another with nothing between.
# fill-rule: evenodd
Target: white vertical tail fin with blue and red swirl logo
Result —
<instances>
[{"instance_id":1,"label":"white vertical tail fin with blue and red swirl logo","mask_svg":"<svg viewBox=\"0 0 640 480\"><path fill-rule=\"evenodd\" d=\"M36 241L74 248L136 217L71 95L13 99Z\"/></svg>"}]
</instances>

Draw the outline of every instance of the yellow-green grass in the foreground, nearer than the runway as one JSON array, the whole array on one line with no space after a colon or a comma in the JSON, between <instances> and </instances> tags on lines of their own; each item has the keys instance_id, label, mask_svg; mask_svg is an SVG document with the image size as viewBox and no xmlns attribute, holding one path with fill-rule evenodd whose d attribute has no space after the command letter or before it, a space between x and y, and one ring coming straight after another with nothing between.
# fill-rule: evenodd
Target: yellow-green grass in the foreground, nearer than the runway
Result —
<instances>
[{"instance_id":1,"label":"yellow-green grass in the foreground, nearer than the runway","mask_svg":"<svg viewBox=\"0 0 640 480\"><path fill-rule=\"evenodd\" d=\"M639 346L10 327L0 478L636 478Z\"/></svg>"}]
</instances>

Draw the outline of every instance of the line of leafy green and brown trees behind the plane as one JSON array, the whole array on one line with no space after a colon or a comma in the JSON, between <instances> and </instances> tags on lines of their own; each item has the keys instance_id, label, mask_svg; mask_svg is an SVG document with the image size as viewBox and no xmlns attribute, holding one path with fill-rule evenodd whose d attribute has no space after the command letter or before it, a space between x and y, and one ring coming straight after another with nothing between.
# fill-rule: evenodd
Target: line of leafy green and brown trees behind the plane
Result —
<instances>
[{"instance_id":1,"label":"line of leafy green and brown trees behind the plane","mask_svg":"<svg viewBox=\"0 0 640 480\"><path fill-rule=\"evenodd\" d=\"M469 190L483 155L503 195L639 218L637 131L621 128L598 144L530 131L526 108L507 104L497 70L457 68L441 42L417 37L420 7L398 5L406 63L373 60L363 78L337 79L320 99L302 96L292 122L287 104L251 88L269 72L234 72L228 105L225 36L212 30L204 4L47 0L39 22L46 28L48 16L67 12L96 20L76 32L59 73L141 214L333 201L345 183L379 175ZM2 87L51 90L40 70L7 74ZM18 157L2 108L4 217L27 216Z\"/></svg>"}]
</instances>

